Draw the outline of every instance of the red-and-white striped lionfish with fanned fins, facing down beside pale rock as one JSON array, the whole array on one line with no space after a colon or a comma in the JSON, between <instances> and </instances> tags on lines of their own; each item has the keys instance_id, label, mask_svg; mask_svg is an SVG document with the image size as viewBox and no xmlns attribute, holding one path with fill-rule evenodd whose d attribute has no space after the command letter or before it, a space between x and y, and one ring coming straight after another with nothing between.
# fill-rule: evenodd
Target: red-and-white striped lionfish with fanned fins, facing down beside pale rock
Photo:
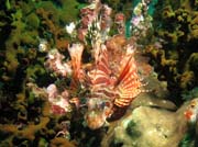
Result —
<instances>
[{"instance_id":1,"label":"red-and-white striped lionfish with fanned fins, facing down beside pale rock","mask_svg":"<svg viewBox=\"0 0 198 147\"><path fill-rule=\"evenodd\" d=\"M111 69L108 49L100 45L96 68L88 72L90 78L90 94L88 112L85 116L87 125L96 129L106 124L106 120L114 113L114 108L127 108L138 97L144 86L138 74L134 50L127 47L127 53L120 61L117 72Z\"/></svg>"}]
</instances>

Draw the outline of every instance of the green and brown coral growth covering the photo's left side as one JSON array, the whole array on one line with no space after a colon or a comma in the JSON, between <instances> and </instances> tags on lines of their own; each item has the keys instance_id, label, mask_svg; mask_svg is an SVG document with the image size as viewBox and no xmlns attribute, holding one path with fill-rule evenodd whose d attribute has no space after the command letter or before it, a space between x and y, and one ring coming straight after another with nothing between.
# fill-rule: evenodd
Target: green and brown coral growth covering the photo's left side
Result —
<instances>
[{"instance_id":1,"label":"green and brown coral growth covering the photo's left side","mask_svg":"<svg viewBox=\"0 0 198 147\"><path fill-rule=\"evenodd\" d=\"M46 38L51 47L66 41L65 25L78 20L80 3L7 0L0 4L0 146L73 146L65 138L54 138L67 116L52 116L46 93L26 84L50 84L40 38Z\"/></svg>"}]
</instances>

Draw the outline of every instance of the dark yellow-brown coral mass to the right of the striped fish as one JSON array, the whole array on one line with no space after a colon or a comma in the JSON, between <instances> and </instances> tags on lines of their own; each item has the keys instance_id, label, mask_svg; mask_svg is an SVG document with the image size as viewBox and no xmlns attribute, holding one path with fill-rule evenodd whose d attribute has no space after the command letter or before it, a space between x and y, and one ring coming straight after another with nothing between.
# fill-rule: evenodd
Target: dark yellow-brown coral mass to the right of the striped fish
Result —
<instances>
[{"instance_id":1,"label":"dark yellow-brown coral mass to the right of the striped fish","mask_svg":"<svg viewBox=\"0 0 198 147\"><path fill-rule=\"evenodd\" d=\"M174 93L170 99L180 104L180 94L198 84L197 3L158 1L154 19L157 38L154 45L146 47L146 53L158 79L167 81L168 90Z\"/></svg>"}]
</instances>

